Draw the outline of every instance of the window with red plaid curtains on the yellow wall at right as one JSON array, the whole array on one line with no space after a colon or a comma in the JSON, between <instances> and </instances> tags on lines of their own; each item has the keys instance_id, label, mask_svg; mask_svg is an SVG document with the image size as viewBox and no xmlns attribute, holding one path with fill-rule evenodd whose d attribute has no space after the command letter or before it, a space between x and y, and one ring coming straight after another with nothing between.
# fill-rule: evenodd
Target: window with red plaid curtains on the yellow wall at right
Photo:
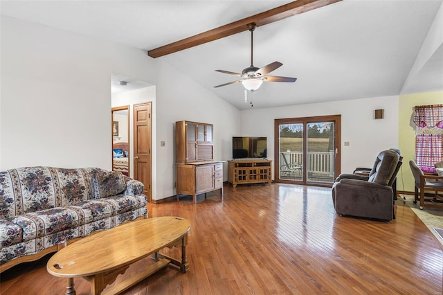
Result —
<instances>
[{"instance_id":1,"label":"window with red plaid curtains on the yellow wall at right","mask_svg":"<svg viewBox=\"0 0 443 295\"><path fill-rule=\"evenodd\" d=\"M443 105L414 108L415 162L423 172L435 172L443 159Z\"/></svg>"}]
</instances>

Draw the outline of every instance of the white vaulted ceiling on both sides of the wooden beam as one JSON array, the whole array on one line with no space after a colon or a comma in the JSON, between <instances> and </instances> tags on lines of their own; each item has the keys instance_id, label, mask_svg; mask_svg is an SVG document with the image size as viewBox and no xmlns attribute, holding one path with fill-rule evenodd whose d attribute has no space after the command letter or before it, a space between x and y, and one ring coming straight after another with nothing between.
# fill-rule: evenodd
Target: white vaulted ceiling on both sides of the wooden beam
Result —
<instances>
[{"instance_id":1,"label":"white vaulted ceiling on both sides of the wooden beam","mask_svg":"<svg viewBox=\"0 0 443 295\"><path fill-rule=\"evenodd\" d=\"M147 51L289 2L1 0L1 14ZM345 0L259 27L254 66L282 62L270 75L298 80L265 82L248 98L262 108L442 91L443 46L405 84L441 5L442 0ZM248 109L242 84L213 87L237 80L215 69L241 73L250 66L250 34L158 59Z\"/></svg>"}]
</instances>

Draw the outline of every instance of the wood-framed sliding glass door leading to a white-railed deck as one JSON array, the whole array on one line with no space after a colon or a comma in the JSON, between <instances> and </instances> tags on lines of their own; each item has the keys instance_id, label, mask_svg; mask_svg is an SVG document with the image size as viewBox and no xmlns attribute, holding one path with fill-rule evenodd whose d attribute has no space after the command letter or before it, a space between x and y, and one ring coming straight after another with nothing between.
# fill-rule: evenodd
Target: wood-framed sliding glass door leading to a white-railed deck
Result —
<instances>
[{"instance_id":1,"label":"wood-framed sliding glass door leading to a white-railed deck","mask_svg":"<svg viewBox=\"0 0 443 295\"><path fill-rule=\"evenodd\" d=\"M276 182L329 186L340 172L340 118L275 120Z\"/></svg>"}]
</instances>

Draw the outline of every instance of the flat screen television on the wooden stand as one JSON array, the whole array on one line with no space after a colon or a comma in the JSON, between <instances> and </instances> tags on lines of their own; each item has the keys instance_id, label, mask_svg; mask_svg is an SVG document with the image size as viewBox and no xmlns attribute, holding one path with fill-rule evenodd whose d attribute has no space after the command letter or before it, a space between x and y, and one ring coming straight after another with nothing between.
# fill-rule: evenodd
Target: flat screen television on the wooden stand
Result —
<instances>
[{"instance_id":1,"label":"flat screen television on the wooden stand","mask_svg":"<svg viewBox=\"0 0 443 295\"><path fill-rule=\"evenodd\" d=\"M233 159L266 158L266 137L233 136Z\"/></svg>"}]
</instances>

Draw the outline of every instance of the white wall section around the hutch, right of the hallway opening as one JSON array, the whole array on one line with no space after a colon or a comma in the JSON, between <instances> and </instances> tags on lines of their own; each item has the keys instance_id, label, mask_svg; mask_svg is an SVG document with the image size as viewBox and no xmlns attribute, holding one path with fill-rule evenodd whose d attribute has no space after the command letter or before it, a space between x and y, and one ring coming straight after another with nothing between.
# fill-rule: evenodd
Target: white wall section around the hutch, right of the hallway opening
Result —
<instances>
[{"instance_id":1,"label":"white wall section around the hutch, right of the hallway opening","mask_svg":"<svg viewBox=\"0 0 443 295\"><path fill-rule=\"evenodd\" d=\"M223 161L232 157L232 136L238 132L240 123L238 109L208 89L202 89L186 74L174 73L172 66L163 65L157 74L159 80L170 81L170 86L157 87L156 177L159 183L163 182L163 186L157 188L160 198L175 195L175 122L212 123L214 158ZM165 141L164 147L160 146L161 141ZM227 167L224 163L224 181L228 180Z\"/></svg>"}]
</instances>

